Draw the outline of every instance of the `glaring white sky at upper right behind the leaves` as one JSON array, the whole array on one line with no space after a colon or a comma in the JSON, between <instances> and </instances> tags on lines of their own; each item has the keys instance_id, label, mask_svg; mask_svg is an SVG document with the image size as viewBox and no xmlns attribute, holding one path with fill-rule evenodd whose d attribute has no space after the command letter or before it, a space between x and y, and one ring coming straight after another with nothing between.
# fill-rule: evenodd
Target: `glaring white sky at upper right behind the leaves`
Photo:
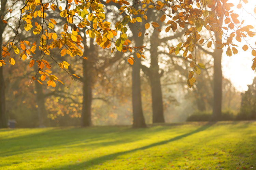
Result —
<instances>
[{"instance_id":1,"label":"glaring white sky at upper right behind the leaves","mask_svg":"<svg viewBox=\"0 0 256 170\"><path fill-rule=\"evenodd\" d=\"M242 0L241 0L242 1ZM240 15L239 20L245 20L244 26L246 25L252 25L254 28L256 28L256 20L254 17L256 17L256 14L254 13L254 8L256 5L256 0L248 0L249 2L247 4L244 4L242 2L242 5L244 9L248 12L253 14L248 14L246 11L242 12L242 9L237 9L237 4L239 3L239 0L229 0L229 2L233 3L235 6L231 8L231 10L234 10L234 13L237 13ZM243 15L241 15L243 14ZM251 29L251 31L256 32L256 29ZM231 32L230 32L231 33ZM246 40L249 40L248 43L255 48L255 41L256 38L247 37ZM234 41L236 42L236 40ZM222 55L222 70L223 70L223 76L225 78L228 78L231 80L233 85L237 88L239 91L246 91L248 89L247 84L251 84L253 81L253 78L256 76L256 73L252 70L252 59L254 58L251 54L252 50L249 49L247 51L242 50L242 46L245 44L245 42L241 43L234 43L236 45L239 45L237 47L238 54L232 55L231 57L226 55L226 51L224 50Z\"/></svg>"}]
</instances>

